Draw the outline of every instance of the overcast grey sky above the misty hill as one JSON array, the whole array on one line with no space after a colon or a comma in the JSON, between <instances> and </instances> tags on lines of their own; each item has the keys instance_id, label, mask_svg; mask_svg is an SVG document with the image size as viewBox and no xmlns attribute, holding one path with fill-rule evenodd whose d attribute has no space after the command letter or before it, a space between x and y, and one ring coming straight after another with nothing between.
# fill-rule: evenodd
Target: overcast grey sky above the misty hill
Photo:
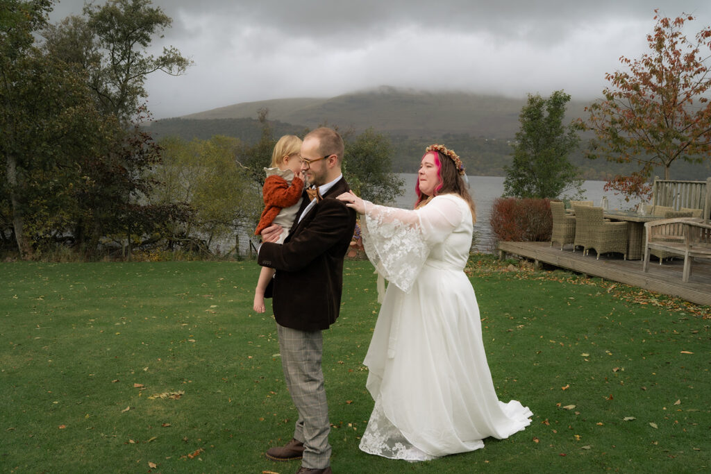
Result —
<instances>
[{"instance_id":1,"label":"overcast grey sky above the misty hill","mask_svg":"<svg viewBox=\"0 0 711 474\"><path fill-rule=\"evenodd\" d=\"M52 21L81 14L60 0ZM95 0L104 4L104 0ZM240 102L390 85L525 97L599 97L619 57L648 52L654 9L711 23L709 0L154 0L173 26L154 45L194 61L149 76L156 119Z\"/></svg>"}]
</instances>

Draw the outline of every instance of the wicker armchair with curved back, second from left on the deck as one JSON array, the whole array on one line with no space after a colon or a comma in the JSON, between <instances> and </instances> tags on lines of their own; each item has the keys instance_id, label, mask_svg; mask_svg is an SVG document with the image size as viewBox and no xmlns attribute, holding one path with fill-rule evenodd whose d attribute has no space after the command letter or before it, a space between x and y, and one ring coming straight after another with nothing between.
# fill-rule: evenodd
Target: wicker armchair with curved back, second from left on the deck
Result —
<instances>
[{"instance_id":1,"label":"wicker armchair with curved back, second from left on the deck","mask_svg":"<svg viewBox=\"0 0 711 474\"><path fill-rule=\"evenodd\" d=\"M627 222L606 222L602 213L602 208L575 207L574 244L581 244L585 254L594 249L598 259L608 252L618 252L627 259Z\"/></svg>"}]
</instances>

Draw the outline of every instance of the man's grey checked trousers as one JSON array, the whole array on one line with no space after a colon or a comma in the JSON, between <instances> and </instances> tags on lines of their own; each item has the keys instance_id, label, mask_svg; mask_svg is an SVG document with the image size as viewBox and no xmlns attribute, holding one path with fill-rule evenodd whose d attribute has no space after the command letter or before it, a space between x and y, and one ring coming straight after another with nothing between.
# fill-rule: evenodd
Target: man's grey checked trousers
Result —
<instances>
[{"instance_id":1,"label":"man's grey checked trousers","mask_svg":"<svg viewBox=\"0 0 711 474\"><path fill-rule=\"evenodd\" d=\"M324 469L330 465L328 404L321 370L324 339L321 331L302 331L277 324L284 380L299 411L294 438L304 443L304 468Z\"/></svg>"}]
</instances>

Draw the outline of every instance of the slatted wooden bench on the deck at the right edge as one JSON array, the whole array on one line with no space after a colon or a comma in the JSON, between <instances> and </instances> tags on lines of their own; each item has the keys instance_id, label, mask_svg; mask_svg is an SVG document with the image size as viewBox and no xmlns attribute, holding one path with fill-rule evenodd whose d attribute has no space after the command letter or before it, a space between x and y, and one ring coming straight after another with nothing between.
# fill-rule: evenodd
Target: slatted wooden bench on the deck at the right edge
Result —
<instances>
[{"instance_id":1,"label":"slatted wooden bench on the deck at the right edge","mask_svg":"<svg viewBox=\"0 0 711 474\"><path fill-rule=\"evenodd\" d=\"M651 250L663 250L684 257L682 281L689 281L691 259L711 259L711 221L690 217L645 222L643 270L649 269Z\"/></svg>"}]
</instances>

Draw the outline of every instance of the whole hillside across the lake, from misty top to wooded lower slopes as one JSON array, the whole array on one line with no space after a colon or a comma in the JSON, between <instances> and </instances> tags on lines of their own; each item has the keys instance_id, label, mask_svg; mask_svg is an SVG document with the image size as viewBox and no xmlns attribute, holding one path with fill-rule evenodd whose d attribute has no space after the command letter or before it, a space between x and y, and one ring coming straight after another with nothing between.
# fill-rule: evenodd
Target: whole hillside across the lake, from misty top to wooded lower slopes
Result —
<instances>
[{"instance_id":1,"label":"whole hillside across the lake, from misty top to wooded lower slopes","mask_svg":"<svg viewBox=\"0 0 711 474\"><path fill-rule=\"evenodd\" d=\"M269 109L274 136L296 134L327 124L355 133L373 127L390 136L395 155L393 171L417 171L417 158L428 144L441 142L455 149L473 176L504 176L503 167L511 163L510 141L519 129L518 114L526 99L510 99L456 92L415 92L380 87L329 99L272 99L234 104L161 119L149 126L156 138L181 136L183 139L208 139L221 134L235 136L247 144L260 139L260 109ZM584 102L568 104L567 119L584 117ZM583 136L582 146L589 137ZM415 157L415 158L413 158ZM581 151L570 160L586 179L605 180L629 173L632 166L606 161L590 161ZM657 170L663 176L663 170ZM675 163L672 178L697 179L711 176L711 161L700 165Z\"/></svg>"}]
</instances>

